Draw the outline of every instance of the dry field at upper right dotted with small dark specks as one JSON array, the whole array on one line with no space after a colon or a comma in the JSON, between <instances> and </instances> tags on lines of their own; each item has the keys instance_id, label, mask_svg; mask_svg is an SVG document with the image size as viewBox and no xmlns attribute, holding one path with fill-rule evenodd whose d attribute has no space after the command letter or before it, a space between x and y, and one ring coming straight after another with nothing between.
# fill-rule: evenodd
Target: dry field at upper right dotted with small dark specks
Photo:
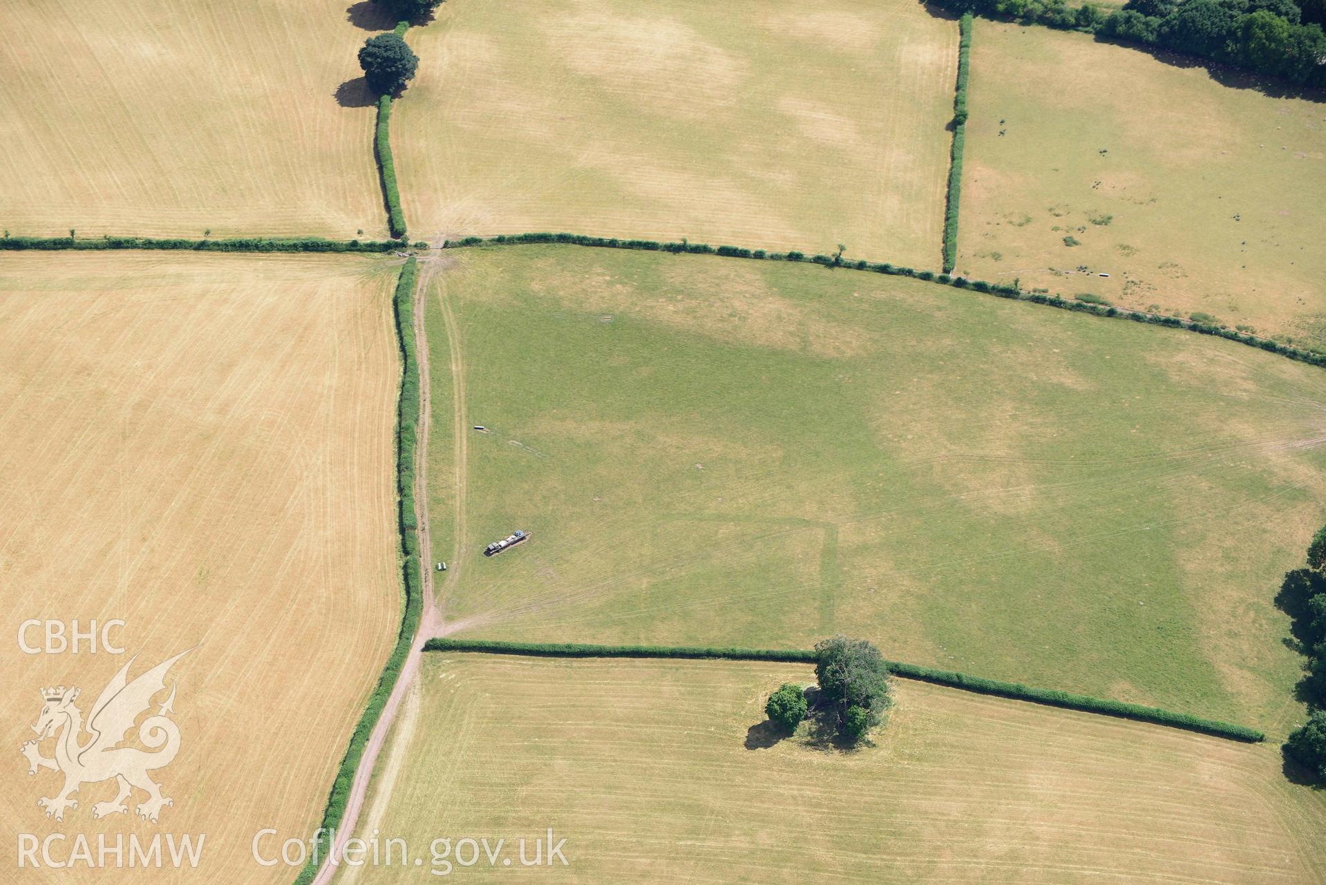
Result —
<instances>
[{"instance_id":1,"label":"dry field at upper right dotted with small dark specks","mask_svg":"<svg viewBox=\"0 0 1326 885\"><path fill-rule=\"evenodd\" d=\"M959 273L1326 346L1326 105L1225 77L977 21Z\"/></svg>"}]
</instances>

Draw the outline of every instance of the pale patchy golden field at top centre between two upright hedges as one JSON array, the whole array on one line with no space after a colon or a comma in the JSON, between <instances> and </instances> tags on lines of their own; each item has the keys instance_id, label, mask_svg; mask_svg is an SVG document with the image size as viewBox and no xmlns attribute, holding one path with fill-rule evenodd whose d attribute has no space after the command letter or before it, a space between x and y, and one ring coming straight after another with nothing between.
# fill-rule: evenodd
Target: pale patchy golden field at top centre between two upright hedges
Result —
<instances>
[{"instance_id":1,"label":"pale patchy golden field at top centre between two upright hedges","mask_svg":"<svg viewBox=\"0 0 1326 885\"><path fill-rule=\"evenodd\" d=\"M908 0L450 0L392 117L406 213L937 266L957 28Z\"/></svg>"}]
</instances>

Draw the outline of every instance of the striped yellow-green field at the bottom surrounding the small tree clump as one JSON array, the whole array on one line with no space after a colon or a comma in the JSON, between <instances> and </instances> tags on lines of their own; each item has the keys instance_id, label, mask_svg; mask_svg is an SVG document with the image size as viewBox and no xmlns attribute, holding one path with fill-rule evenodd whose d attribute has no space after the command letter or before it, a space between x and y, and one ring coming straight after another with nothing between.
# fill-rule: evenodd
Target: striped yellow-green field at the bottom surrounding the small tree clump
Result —
<instances>
[{"instance_id":1,"label":"striped yellow-green field at the bottom surrounding the small tree clump","mask_svg":"<svg viewBox=\"0 0 1326 885\"><path fill-rule=\"evenodd\" d=\"M430 654L418 726L371 825L426 869L442 868L436 837L505 839L513 861L497 870L483 852L455 865L468 859L459 845L444 859L503 881L1326 876L1326 802L1285 782L1274 747L902 681L873 747L823 747L805 723L777 739L766 696L813 680L798 665ZM549 827L568 865L521 868L518 840ZM379 865L341 881L419 874Z\"/></svg>"}]
</instances>

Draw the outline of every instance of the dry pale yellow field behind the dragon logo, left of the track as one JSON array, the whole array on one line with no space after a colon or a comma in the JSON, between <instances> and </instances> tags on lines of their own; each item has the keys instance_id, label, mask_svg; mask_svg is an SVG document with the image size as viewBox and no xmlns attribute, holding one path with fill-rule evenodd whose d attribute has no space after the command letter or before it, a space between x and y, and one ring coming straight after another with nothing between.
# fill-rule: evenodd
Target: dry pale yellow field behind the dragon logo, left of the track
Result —
<instances>
[{"instance_id":1,"label":"dry pale yellow field behind the dragon logo, left of the track","mask_svg":"<svg viewBox=\"0 0 1326 885\"><path fill-rule=\"evenodd\" d=\"M357 257L0 257L0 880L70 881L30 866L12 878L13 835L57 831L93 845L206 835L192 874L77 866L85 881L293 878L256 866L249 843L263 827L317 825L400 616L391 270ZM123 656L17 645L27 619L117 617ZM137 676L192 647L167 677L179 755L152 775L174 807L137 820L135 794L129 815L94 820L115 792L106 782L46 820L36 803L60 778L29 778L19 751L40 689L81 688L86 715L131 654Z\"/></svg>"}]
</instances>

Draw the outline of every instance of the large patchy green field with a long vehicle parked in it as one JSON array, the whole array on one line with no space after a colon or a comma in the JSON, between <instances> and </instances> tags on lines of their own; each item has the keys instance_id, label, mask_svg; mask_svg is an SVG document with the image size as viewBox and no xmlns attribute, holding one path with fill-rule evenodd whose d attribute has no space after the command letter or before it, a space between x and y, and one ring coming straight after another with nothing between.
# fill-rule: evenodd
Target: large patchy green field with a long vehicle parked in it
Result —
<instances>
[{"instance_id":1,"label":"large patchy green field with a long vehicle parked in it","mask_svg":"<svg viewBox=\"0 0 1326 885\"><path fill-rule=\"evenodd\" d=\"M444 261L434 390L455 346L467 423L489 428L465 436L453 629L842 631L1272 733L1298 717L1272 599L1321 518L1321 370L851 270L575 246ZM438 400L436 539L452 428ZM479 555L514 529L532 541Z\"/></svg>"}]
</instances>

